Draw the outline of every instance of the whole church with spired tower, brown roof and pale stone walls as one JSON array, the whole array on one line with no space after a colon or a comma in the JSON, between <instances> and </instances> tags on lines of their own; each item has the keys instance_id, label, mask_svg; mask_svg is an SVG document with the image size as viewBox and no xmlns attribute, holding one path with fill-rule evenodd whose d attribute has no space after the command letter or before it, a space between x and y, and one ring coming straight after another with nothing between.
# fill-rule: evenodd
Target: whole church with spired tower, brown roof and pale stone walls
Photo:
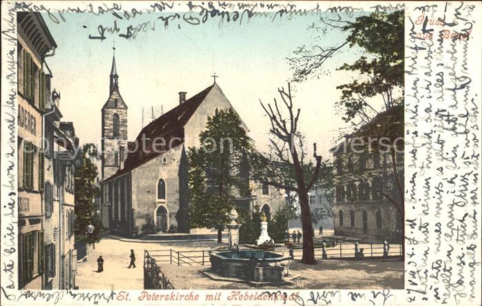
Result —
<instances>
[{"instance_id":1,"label":"whole church with spired tower, brown roof and pale stone walls","mask_svg":"<svg viewBox=\"0 0 482 306\"><path fill-rule=\"evenodd\" d=\"M215 78L189 99L187 92L179 92L175 108L128 142L127 105L119 92L115 59L110 78L110 96L102 109L103 225L124 236L173 228L189 233L187 150L200 147L199 133L205 130L208 116L233 106ZM285 202L284 194L274 187L254 182L250 186L251 196L243 200L251 211L258 207L271 216Z\"/></svg>"}]
</instances>

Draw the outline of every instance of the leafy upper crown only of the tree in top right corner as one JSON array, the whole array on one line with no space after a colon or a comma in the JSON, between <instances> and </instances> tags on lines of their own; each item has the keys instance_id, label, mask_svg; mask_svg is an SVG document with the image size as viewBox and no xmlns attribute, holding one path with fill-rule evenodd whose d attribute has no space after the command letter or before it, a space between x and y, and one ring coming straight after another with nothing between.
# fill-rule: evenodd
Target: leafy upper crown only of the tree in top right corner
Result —
<instances>
[{"instance_id":1,"label":"leafy upper crown only of the tree in top right corner","mask_svg":"<svg viewBox=\"0 0 482 306\"><path fill-rule=\"evenodd\" d=\"M338 70L359 72L350 83L337 86L342 90L337 107L342 118L354 125L368 123L379 112L388 110L403 101L404 87L404 12L372 13L357 17L355 21L320 18L315 30L322 32L315 45L301 46L295 50L289 63L294 81L304 81L308 76L319 76L324 63L346 48L362 48L364 54L354 63L344 63ZM324 36L331 30L348 36L339 45L324 45ZM383 110L370 104L370 98L381 96Z\"/></svg>"}]
</instances>

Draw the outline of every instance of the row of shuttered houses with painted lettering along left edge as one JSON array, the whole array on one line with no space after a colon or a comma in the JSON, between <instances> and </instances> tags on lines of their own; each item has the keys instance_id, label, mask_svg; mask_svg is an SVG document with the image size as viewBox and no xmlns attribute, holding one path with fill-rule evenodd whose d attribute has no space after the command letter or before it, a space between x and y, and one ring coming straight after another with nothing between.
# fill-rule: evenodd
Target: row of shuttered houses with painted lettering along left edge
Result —
<instances>
[{"instance_id":1,"label":"row of shuttered houses with painted lettering along left edge","mask_svg":"<svg viewBox=\"0 0 482 306\"><path fill-rule=\"evenodd\" d=\"M19 288L70 289L78 137L61 121L61 95L52 90L52 34L39 13L19 12L17 26Z\"/></svg>"}]
</instances>

